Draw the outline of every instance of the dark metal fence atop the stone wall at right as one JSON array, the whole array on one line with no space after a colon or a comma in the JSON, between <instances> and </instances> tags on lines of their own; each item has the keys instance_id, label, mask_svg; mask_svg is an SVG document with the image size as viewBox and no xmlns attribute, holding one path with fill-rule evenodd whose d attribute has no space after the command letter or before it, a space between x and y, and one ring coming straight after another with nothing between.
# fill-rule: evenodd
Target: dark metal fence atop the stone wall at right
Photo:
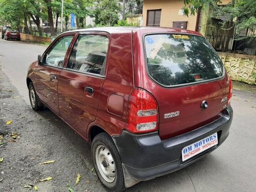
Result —
<instances>
[{"instance_id":1,"label":"dark metal fence atop the stone wall at right","mask_svg":"<svg viewBox=\"0 0 256 192\"><path fill-rule=\"evenodd\" d=\"M256 37L232 35L206 35L216 51L256 55Z\"/></svg>"}]
</instances>

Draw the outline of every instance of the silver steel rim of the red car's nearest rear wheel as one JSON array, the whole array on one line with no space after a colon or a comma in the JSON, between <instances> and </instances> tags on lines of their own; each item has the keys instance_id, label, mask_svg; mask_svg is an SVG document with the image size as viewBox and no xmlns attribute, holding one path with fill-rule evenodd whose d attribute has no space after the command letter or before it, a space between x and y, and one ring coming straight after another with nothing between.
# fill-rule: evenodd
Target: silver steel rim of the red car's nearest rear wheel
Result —
<instances>
[{"instance_id":1,"label":"silver steel rim of the red car's nearest rear wheel","mask_svg":"<svg viewBox=\"0 0 256 192\"><path fill-rule=\"evenodd\" d=\"M112 183L116 178L116 166L108 148L103 145L97 146L95 158L100 175L105 181Z\"/></svg>"}]
</instances>

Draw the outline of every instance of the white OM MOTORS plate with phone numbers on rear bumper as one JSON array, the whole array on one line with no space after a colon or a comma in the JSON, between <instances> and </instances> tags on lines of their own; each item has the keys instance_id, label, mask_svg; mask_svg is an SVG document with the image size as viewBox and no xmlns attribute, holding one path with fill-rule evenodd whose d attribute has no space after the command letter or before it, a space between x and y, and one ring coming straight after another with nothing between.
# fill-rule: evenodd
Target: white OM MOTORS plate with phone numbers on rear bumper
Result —
<instances>
[{"instance_id":1,"label":"white OM MOTORS plate with phone numbers on rear bumper","mask_svg":"<svg viewBox=\"0 0 256 192\"><path fill-rule=\"evenodd\" d=\"M217 136L217 133L215 133L200 141L197 141L193 144L185 146L181 152L182 161L185 161L191 157L194 157L195 155L200 154L201 152L207 150L207 148L210 148L217 144L218 144L218 136Z\"/></svg>"}]
</instances>

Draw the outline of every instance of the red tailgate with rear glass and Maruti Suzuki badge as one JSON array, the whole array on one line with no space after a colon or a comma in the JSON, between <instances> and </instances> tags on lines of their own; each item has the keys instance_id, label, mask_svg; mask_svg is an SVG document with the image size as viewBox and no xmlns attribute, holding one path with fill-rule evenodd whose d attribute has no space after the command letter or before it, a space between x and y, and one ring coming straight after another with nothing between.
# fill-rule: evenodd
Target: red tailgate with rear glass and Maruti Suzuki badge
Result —
<instances>
[{"instance_id":1,"label":"red tailgate with rear glass and Maruti Suzuki badge","mask_svg":"<svg viewBox=\"0 0 256 192\"><path fill-rule=\"evenodd\" d=\"M203 37L146 35L144 48L147 75L141 81L157 100L161 139L220 117L227 106L228 80L223 63Z\"/></svg>"}]
</instances>

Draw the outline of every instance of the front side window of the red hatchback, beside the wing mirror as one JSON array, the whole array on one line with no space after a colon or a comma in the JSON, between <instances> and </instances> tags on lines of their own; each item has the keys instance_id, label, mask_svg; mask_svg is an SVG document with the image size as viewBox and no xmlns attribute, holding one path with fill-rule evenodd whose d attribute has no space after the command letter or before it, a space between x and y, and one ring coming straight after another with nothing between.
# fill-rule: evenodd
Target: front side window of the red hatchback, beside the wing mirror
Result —
<instances>
[{"instance_id":1,"label":"front side window of the red hatchback, beside the wing mirror","mask_svg":"<svg viewBox=\"0 0 256 192\"><path fill-rule=\"evenodd\" d=\"M62 67L66 52L73 37L72 35L59 38L46 53L45 64L53 67Z\"/></svg>"}]
</instances>

